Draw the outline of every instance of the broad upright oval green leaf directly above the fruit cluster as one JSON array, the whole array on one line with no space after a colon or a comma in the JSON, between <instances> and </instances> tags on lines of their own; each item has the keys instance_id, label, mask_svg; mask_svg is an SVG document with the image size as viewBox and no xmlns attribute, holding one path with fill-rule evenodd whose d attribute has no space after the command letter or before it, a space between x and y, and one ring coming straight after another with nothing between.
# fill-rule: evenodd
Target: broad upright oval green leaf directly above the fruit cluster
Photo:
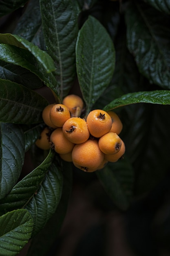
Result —
<instances>
[{"instance_id":1,"label":"broad upright oval green leaf directly above the fruit cluster","mask_svg":"<svg viewBox=\"0 0 170 256\"><path fill-rule=\"evenodd\" d=\"M92 16L79 31L76 67L88 113L110 83L115 68L113 42L102 24Z\"/></svg>"}]
</instances>

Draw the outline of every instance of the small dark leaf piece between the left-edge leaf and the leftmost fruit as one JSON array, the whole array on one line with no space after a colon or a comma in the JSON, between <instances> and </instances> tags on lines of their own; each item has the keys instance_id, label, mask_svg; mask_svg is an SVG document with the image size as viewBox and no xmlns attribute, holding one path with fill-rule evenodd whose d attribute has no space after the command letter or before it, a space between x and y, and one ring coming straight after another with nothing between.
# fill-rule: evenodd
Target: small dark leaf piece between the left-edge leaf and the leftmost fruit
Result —
<instances>
[{"instance_id":1,"label":"small dark leaf piece between the left-edge leaf and the leftmost fruit","mask_svg":"<svg viewBox=\"0 0 170 256\"><path fill-rule=\"evenodd\" d=\"M28 151L31 146L35 143L35 141L40 136L40 132L44 125L38 124L36 126L26 126L24 130L25 135L25 152ZM22 127L23 128L23 127Z\"/></svg>"}]
</instances>

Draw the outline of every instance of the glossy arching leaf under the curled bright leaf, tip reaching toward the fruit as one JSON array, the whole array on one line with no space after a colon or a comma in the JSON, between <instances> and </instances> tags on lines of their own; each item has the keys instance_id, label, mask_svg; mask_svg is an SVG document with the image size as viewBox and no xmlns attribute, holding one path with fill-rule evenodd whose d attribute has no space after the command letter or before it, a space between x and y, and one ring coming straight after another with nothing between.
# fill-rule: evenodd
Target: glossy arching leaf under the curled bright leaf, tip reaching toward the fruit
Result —
<instances>
[{"instance_id":1,"label":"glossy arching leaf under the curled bright leaf, tip reaching toward the fruit","mask_svg":"<svg viewBox=\"0 0 170 256\"><path fill-rule=\"evenodd\" d=\"M37 49L37 48L36 48ZM35 54L36 54L36 49ZM33 56L31 52L27 49L17 47L14 45L0 44L0 60L5 61L7 63L12 63L14 65L18 65L24 67L31 72L33 72L36 76L38 76L44 84L49 86L52 90L57 94L57 81L52 73L48 73L49 70L46 70L44 65L40 63L38 58ZM45 58L44 58L45 61Z\"/></svg>"}]
</instances>

